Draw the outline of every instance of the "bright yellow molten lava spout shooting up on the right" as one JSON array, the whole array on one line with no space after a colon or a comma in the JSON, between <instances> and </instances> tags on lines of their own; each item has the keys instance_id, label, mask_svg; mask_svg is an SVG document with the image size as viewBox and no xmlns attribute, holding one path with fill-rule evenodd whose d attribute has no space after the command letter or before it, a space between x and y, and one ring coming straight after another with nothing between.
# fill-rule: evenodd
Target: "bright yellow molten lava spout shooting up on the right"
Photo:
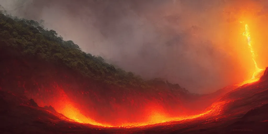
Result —
<instances>
[{"instance_id":1,"label":"bright yellow molten lava spout shooting up on the right","mask_svg":"<svg viewBox=\"0 0 268 134\"><path fill-rule=\"evenodd\" d=\"M264 69L259 69L258 68L258 65L255 61L255 54L254 54L254 51L252 49L252 43L251 43L251 38L250 38L250 32L249 32L249 29L248 29L248 24L245 25L245 32L243 33L243 36L246 36L247 37L247 40L248 40L248 47L250 48L250 51L251 51L251 56L252 56L252 60L254 61L254 64L255 64L255 72L253 73L252 75L252 80L253 81L258 81L259 78L260 78L260 73L264 70ZM255 80L254 80L255 79Z\"/></svg>"}]
</instances>

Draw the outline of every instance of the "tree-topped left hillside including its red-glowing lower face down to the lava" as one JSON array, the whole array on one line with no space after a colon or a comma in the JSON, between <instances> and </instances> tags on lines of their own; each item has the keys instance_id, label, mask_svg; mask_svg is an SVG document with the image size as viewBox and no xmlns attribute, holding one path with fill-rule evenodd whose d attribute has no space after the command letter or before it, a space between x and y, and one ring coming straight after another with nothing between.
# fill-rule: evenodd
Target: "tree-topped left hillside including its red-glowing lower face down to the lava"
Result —
<instances>
[{"instance_id":1,"label":"tree-topped left hillside including its red-glowing lower face down to the lava","mask_svg":"<svg viewBox=\"0 0 268 134\"><path fill-rule=\"evenodd\" d=\"M199 97L178 84L116 69L36 21L0 13L0 29L1 90L24 94L42 107L52 105L77 122L162 122L151 121L151 113L189 114L193 110L183 102Z\"/></svg>"}]
</instances>

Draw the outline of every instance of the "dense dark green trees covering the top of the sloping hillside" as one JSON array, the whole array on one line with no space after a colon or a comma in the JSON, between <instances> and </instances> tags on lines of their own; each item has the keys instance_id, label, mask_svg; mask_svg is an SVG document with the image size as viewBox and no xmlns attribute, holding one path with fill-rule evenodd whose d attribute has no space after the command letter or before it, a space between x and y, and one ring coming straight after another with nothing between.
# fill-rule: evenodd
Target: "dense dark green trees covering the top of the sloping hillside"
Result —
<instances>
[{"instance_id":1,"label":"dense dark green trees covering the top of the sloping hillside","mask_svg":"<svg viewBox=\"0 0 268 134\"><path fill-rule=\"evenodd\" d=\"M107 84L128 89L151 89L168 87L188 93L178 84L159 79L145 81L132 72L125 72L107 64L100 56L83 52L72 40L65 41L56 31L44 29L40 22L0 13L0 43L2 48L16 50L24 56L66 65L82 75ZM162 88L162 89L163 89Z\"/></svg>"}]
</instances>

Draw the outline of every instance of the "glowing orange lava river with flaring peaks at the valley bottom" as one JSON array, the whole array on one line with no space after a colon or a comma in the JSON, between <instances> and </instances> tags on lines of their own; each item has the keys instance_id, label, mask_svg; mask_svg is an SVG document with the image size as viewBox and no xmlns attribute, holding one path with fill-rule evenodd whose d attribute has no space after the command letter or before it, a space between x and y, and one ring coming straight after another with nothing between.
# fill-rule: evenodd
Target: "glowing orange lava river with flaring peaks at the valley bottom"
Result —
<instances>
[{"instance_id":1,"label":"glowing orange lava river with flaring peaks at the valley bottom","mask_svg":"<svg viewBox=\"0 0 268 134\"><path fill-rule=\"evenodd\" d=\"M128 123L121 123L119 125L111 125L108 123L98 122L93 120L91 117L85 116L83 112L74 104L72 103L71 99L66 95L66 93L61 89L59 90L59 94L61 96L57 97L57 99L53 100L53 104L55 110L58 113L50 112L51 114L54 114L55 116L61 118L62 120L66 121L72 121L72 122L78 122L82 124L88 124L88 125L96 125L99 127L124 127L124 128L134 128L134 127L150 127L150 126L156 126L156 125L163 125L163 124L172 124L175 121L184 121L184 120L191 120L194 118L199 117L213 117L217 116L222 113L222 109L224 105L228 102L222 101L222 102L215 102L210 107L205 109L200 114L193 114L188 116L177 116L172 117L166 114L163 111L159 111L158 109L152 110L150 112L150 116L143 116L143 121L141 122L128 122ZM38 99L36 99L38 101ZM43 107L42 103L39 103L40 106Z\"/></svg>"}]
</instances>

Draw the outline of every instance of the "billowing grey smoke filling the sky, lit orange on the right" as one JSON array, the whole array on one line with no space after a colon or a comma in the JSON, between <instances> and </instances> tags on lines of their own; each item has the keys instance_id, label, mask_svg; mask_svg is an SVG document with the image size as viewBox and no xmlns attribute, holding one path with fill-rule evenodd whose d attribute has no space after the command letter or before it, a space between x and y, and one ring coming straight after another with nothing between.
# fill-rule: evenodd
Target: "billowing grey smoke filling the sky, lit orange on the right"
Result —
<instances>
[{"instance_id":1,"label":"billowing grey smoke filling the sky, lit orange on the right","mask_svg":"<svg viewBox=\"0 0 268 134\"><path fill-rule=\"evenodd\" d=\"M190 92L213 92L250 78L254 64L240 21L254 24L257 61L261 68L267 65L260 58L267 55L263 51L267 37L256 30L268 31L262 22L267 20L268 4L261 0L0 2L12 15L45 20L46 28L87 53L145 79L178 83Z\"/></svg>"}]
</instances>

